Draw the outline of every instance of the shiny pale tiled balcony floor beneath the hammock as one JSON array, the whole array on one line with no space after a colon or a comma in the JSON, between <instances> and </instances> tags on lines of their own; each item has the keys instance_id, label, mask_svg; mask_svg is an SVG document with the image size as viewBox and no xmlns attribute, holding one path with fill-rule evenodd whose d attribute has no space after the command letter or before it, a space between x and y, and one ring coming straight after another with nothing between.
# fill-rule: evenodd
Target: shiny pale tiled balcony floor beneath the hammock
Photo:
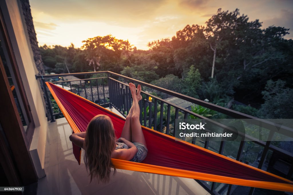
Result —
<instances>
[{"instance_id":1,"label":"shiny pale tiled balcony floor beneath the hammock","mask_svg":"<svg viewBox=\"0 0 293 195\"><path fill-rule=\"evenodd\" d=\"M90 183L84 162L78 165L72 153L72 130L65 118L49 122L45 172L38 194L209 194L195 180L117 169L107 184Z\"/></svg>"}]
</instances>

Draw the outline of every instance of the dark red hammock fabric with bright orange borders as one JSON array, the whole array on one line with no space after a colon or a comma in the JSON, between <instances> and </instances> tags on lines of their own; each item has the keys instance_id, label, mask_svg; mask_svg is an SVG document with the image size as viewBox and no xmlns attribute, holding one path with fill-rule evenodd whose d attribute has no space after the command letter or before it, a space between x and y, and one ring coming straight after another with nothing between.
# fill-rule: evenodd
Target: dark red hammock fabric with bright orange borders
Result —
<instances>
[{"instance_id":1,"label":"dark red hammock fabric with bright orange borders","mask_svg":"<svg viewBox=\"0 0 293 195\"><path fill-rule=\"evenodd\" d=\"M46 84L74 133L86 131L94 116L104 114L112 119L116 137L120 137L124 118L50 82ZM175 141L175 137L147 127L142 126L142 130L147 157L142 163L112 159L115 168L293 192L290 180L186 141ZM80 164L81 148L73 144L73 153Z\"/></svg>"}]
</instances>

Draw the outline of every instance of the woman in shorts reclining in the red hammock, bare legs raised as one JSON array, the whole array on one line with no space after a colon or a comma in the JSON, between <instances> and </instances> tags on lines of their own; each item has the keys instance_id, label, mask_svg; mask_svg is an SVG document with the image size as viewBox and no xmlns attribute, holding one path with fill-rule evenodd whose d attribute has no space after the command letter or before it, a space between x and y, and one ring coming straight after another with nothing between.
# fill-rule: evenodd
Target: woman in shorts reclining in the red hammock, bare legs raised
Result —
<instances>
[{"instance_id":1,"label":"woman in shorts reclining in the red hammock, bare legs raised","mask_svg":"<svg viewBox=\"0 0 293 195\"><path fill-rule=\"evenodd\" d=\"M91 180L93 177L102 182L110 180L111 168L114 168L111 158L141 162L147 156L146 141L139 122L138 102L142 99L142 88L138 85L137 93L133 83L129 83L129 88L133 102L119 139L116 140L112 120L106 115L95 116L88 123L86 132L69 137L70 141L85 150L84 162Z\"/></svg>"}]
</instances>

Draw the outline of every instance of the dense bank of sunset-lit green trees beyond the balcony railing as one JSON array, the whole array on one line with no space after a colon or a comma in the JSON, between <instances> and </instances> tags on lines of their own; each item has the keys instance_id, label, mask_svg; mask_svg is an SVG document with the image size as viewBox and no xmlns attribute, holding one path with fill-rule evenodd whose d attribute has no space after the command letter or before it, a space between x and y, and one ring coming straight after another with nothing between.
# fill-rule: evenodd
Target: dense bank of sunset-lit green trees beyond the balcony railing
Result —
<instances>
[{"instance_id":1,"label":"dense bank of sunset-lit green trees beyond the balcony railing","mask_svg":"<svg viewBox=\"0 0 293 195\"><path fill-rule=\"evenodd\" d=\"M293 41L286 34L238 9L219 9L205 26L186 25L172 39L149 42L148 51L111 35L81 48L40 50L47 73L110 70L249 115L292 118Z\"/></svg>"}]
</instances>

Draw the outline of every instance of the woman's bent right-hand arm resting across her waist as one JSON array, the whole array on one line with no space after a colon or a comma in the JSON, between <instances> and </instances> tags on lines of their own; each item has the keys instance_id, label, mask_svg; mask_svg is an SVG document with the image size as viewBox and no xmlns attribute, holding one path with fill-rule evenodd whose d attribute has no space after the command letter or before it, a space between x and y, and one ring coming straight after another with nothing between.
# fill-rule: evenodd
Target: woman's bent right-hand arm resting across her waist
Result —
<instances>
[{"instance_id":1,"label":"woman's bent right-hand arm resting across her waist","mask_svg":"<svg viewBox=\"0 0 293 195\"><path fill-rule=\"evenodd\" d=\"M128 146L128 149L114 150L114 152L112 153L112 158L130 161L134 157L134 155L137 153L136 146L132 142L122 137L120 138L120 142L123 142L124 144L126 144Z\"/></svg>"}]
</instances>

